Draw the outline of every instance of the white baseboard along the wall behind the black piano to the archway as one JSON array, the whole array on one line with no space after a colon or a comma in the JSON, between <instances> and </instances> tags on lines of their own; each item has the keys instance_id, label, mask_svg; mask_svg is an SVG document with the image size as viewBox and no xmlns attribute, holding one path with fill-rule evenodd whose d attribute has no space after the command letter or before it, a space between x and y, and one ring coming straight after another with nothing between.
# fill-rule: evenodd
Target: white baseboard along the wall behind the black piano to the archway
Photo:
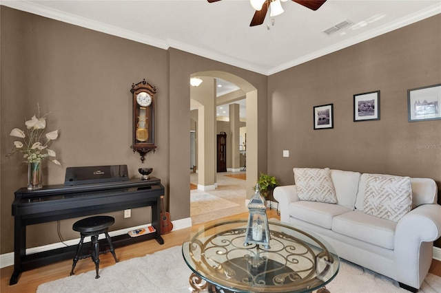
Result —
<instances>
[{"instance_id":1,"label":"white baseboard along the wall behind the black piano to the archway","mask_svg":"<svg viewBox=\"0 0 441 293\"><path fill-rule=\"evenodd\" d=\"M178 219L176 221L172 221L173 224L173 230L181 230L183 228L189 228L192 226L192 218L188 217L185 219ZM114 231L110 231L109 235L111 237L114 236L119 236L119 235L123 235L123 234L127 234L127 232L132 231L132 230L136 230L145 226L152 226L151 224L147 224L147 225L140 225L140 226L134 226L134 227L130 227L130 228L124 228L121 230L114 230ZM103 239L104 235L100 235L99 239ZM64 243L66 243L68 246L73 246L78 244L80 241L79 238L77 239L70 239L67 241L64 241ZM90 242L89 241L85 241L85 243ZM45 246L37 246L37 247L33 247L33 248L27 248L26 249L26 254L33 254L33 253L37 253L37 252L43 252L43 251L47 251L47 250L52 250L52 249L57 249L57 248L62 248L65 245L61 242L58 243L52 243L52 244L48 244ZM6 268L10 265L14 265L14 252L8 252L8 253L4 253L4 254L0 254L0 268Z\"/></svg>"}]
</instances>

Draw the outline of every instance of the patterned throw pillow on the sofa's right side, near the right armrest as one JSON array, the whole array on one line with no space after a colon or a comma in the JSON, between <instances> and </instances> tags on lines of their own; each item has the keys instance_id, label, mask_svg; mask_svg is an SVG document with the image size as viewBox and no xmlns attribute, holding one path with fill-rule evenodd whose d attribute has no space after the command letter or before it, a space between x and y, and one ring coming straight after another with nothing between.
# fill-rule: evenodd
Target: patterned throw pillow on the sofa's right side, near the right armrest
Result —
<instances>
[{"instance_id":1,"label":"patterned throw pillow on the sofa's right side, near the right armrest","mask_svg":"<svg viewBox=\"0 0 441 293\"><path fill-rule=\"evenodd\" d=\"M363 210L369 215L398 222L412 206L410 177L369 174Z\"/></svg>"}]
</instances>

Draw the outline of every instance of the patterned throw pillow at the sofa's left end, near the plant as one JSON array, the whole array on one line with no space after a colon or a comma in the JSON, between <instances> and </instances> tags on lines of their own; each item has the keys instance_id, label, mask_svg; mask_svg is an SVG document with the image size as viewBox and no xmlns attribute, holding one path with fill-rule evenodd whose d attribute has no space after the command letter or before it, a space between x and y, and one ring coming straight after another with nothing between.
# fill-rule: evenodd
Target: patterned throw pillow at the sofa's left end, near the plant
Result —
<instances>
[{"instance_id":1,"label":"patterned throw pillow at the sofa's left end, near the plant","mask_svg":"<svg viewBox=\"0 0 441 293\"><path fill-rule=\"evenodd\" d=\"M336 191L332 184L329 168L294 168L294 180L300 200L309 202L337 203Z\"/></svg>"}]
</instances>

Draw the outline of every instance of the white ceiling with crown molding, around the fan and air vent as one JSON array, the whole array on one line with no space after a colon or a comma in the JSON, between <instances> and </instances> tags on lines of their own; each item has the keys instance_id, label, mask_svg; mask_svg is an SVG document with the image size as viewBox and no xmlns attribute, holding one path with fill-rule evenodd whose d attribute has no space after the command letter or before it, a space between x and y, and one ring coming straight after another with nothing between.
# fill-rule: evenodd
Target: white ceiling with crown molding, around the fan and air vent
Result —
<instances>
[{"instance_id":1,"label":"white ceiling with crown molding, around the fan and air vent","mask_svg":"<svg viewBox=\"0 0 441 293\"><path fill-rule=\"evenodd\" d=\"M274 25L267 15L263 25L249 27L254 14L249 0L0 1L3 6L265 75L441 13L441 0L327 0L316 11L287 1ZM353 25L331 36L323 33L342 21Z\"/></svg>"}]
</instances>

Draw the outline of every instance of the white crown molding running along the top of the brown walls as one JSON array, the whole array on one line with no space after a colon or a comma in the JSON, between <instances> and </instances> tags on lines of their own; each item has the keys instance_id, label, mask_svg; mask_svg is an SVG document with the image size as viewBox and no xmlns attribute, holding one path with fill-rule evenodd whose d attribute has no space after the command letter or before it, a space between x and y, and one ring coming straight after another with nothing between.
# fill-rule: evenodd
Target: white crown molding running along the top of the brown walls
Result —
<instances>
[{"instance_id":1,"label":"white crown molding running along the top of the brown walls","mask_svg":"<svg viewBox=\"0 0 441 293\"><path fill-rule=\"evenodd\" d=\"M123 39L129 39L131 41L136 41L139 43L144 43L146 45L151 45L153 47L158 47L163 50L168 50L170 47L174 47L178 50L182 50L184 52L188 52L191 54L196 54L201 57L209 58L214 61L218 61L221 63L225 63L228 65L232 65L235 67L239 67L242 69L247 69L252 72L256 72L258 74L263 74L265 76L270 76L271 74L276 74L285 69L289 69L296 65L300 65L302 63L306 63L308 61L314 60L321 56L325 56L332 52L336 52L338 50L342 50L345 47L349 47L351 45L355 45L357 43L361 43L362 41L367 41L372 39L373 37L380 36L381 34L385 34L387 32L391 32L393 30L397 30L398 28L402 28L411 23L416 23L417 21L421 21L423 19L427 19L429 17L434 16L435 14L441 13L441 3L437 3L429 8L424 10L420 10L411 14L410 16L403 17L402 19L398 19L398 21L393 21L393 23L387 23L386 25L382 25L375 30L369 30L364 34L360 34L358 36L354 36L351 39L347 39L346 41L342 41L335 45L325 47L322 50L318 50L316 52L312 52L311 54L307 54L302 56L301 58L296 58L293 61L289 61L282 65L278 65L271 69L266 69L263 67L258 67L253 65L252 63L247 63L243 61L239 61L236 58L231 58L225 56L223 54L216 54L214 52L209 52L208 50L202 50L201 48L194 47L192 45L181 43L178 41L174 41L172 39L168 39L167 41L162 41L159 39L151 38L149 36L145 36L143 34L138 34L131 32L130 30L124 30L121 28L116 28L112 25L107 25L105 23L100 23L99 21L92 21L91 19L86 19L83 17L78 17L74 14L61 12L59 10L54 10L52 8L47 8L45 6L41 6L34 2L29 1L1 1L0 5L8 6L10 8L14 8L17 10L22 10L25 12L29 12L32 14L37 14L42 17L48 17L50 19L55 19L57 21L62 21L64 23L70 23L72 25L78 25L83 28L88 28L90 30L95 30L98 32L103 32L105 34L111 34L113 36L119 36Z\"/></svg>"}]
</instances>

